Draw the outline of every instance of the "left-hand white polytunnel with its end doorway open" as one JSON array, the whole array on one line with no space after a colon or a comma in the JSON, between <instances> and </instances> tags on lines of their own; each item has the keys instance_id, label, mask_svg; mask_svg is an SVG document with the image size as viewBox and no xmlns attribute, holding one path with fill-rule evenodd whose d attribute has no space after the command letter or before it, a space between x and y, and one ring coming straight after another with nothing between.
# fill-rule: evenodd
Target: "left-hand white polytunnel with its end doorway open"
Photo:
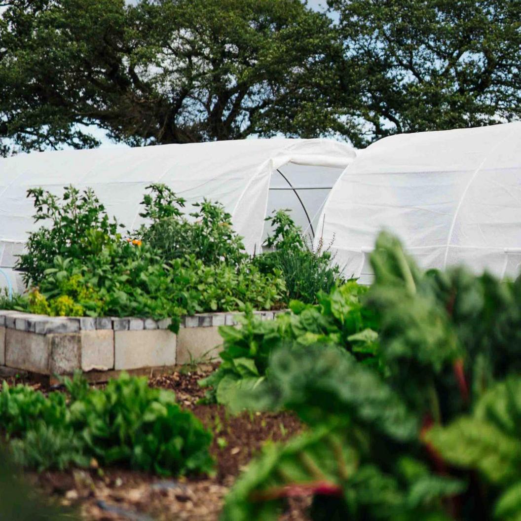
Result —
<instances>
[{"instance_id":1,"label":"left-hand white polytunnel with its end doorway open","mask_svg":"<svg viewBox=\"0 0 521 521\"><path fill-rule=\"evenodd\" d=\"M264 219L274 209L292 209L306 232L315 226L332 183L355 156L354 148L333 140L251 139L33 152L0 159L0 268L20 291L20 278L13 272L16 255L28 233L42 224L32 218L34 208L27 199L32 187L56 194L68 184L91 187L110 216L135 229L141 224L145 187L162 182L187 200L189 210L204 197L224 204L246 250L253 253L261 249ZM0 274L0 287L5 286L3 279Z\"/></svg>"}]
</instances>

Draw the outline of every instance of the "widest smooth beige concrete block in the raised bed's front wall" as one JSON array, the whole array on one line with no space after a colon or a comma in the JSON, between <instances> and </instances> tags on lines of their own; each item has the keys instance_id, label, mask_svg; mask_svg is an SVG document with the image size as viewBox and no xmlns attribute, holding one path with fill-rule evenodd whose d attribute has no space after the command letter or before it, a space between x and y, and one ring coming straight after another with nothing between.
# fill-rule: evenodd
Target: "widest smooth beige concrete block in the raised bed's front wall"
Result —
<instances>
[{"instance_id":1,"label":"widest smooth beige concrete block in the raised bed's front wall","mask_svg":"<svg viewBox=\"0 0 521 521\"><path fill-rule=\"evenodd\" d=\"M175 365L177 338L167 329L114 331L114 368Z\"/></svg>"}]
</instances>

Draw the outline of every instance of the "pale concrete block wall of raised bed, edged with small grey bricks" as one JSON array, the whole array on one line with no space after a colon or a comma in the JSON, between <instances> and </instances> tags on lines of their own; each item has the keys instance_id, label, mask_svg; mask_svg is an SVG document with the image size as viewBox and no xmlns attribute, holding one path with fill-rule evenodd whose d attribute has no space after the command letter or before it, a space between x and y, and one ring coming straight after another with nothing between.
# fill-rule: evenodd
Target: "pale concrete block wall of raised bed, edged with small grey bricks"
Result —
<instances>
[{"instance_id":1,"label":"pale concrete block wall of raised bed, edged with small grey bricks","mask_svg":"<svg viewBox=\"0 0 521 521\"><path fill-rule=\"evenodd\" d=\"M271 320L281 312L254 312ZM219 326L237 324L238 313L181 318L178 334L169 319L49 317L0 310L0 366L53 377L76 370L91 380L117 371L171 368L216 357Z\"/></svg>"}]
</instances>

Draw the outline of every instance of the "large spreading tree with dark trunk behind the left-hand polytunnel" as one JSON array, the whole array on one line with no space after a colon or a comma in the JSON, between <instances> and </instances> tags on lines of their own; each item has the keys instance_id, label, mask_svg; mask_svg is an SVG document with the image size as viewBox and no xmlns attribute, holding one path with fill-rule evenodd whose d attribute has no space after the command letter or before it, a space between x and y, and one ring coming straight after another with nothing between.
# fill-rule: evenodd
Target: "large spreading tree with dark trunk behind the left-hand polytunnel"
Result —
<instances>
[{"instance_id":1,"label":"large spreading tree with dark trunk behind the left-hand polytunnel","mask_svg":"<svg viewBox=\"0 0 521 521\"><path fill-rule=\"evenodd\" d=\"M324 92L329 19L300 0L6 0L0 148L313 137L340 128Z\"/></svg>"}]
</instances>

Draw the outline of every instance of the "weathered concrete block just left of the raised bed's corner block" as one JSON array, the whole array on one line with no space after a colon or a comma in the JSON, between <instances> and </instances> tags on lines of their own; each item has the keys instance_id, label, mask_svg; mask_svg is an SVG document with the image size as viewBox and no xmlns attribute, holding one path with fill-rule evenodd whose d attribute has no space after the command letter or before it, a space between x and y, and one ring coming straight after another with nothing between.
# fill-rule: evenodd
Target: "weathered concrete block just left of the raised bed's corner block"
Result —
<instances>
[{"instance_id":1,"label":"weathered concrete block just left of the raised bed's corner block","mask_svg":"<svg viewBox=\"0 0 521 521\"><path fill-rule=\"evenodd\" d=\"M49 374L49 339L43 334L6 329L5 365Z\"/></svg>"}]
</instances>

